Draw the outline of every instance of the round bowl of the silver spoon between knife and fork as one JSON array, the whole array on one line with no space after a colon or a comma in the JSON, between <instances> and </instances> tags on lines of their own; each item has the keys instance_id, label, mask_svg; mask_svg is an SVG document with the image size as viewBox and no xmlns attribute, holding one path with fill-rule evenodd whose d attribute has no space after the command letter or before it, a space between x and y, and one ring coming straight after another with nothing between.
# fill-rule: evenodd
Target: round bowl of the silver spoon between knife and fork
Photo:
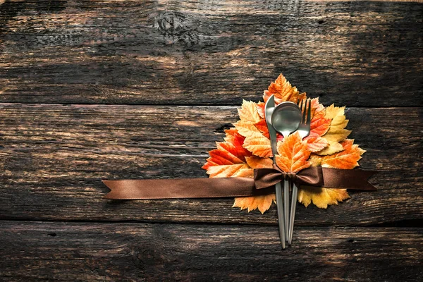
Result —
<instances>
[{"instance_id":1,"label":"round bowl of the silver spoon between knife and fork","mask_svg":"<svg viewBox=\"0 0 423 282\"><path fill-rule=\"evenodd\" d=\"M301 123L301 116L301 110L297 104L282 102L276 106L271 114L271 125L285 138L298 129Z\"/></svg>"}]
</instances>

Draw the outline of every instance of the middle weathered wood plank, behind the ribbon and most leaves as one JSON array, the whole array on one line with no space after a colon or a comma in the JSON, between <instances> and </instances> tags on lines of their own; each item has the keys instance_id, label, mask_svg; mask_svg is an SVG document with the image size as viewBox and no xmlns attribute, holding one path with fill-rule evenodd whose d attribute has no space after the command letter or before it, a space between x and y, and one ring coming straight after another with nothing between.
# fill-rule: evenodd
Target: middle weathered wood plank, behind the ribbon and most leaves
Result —
<instances>
[{"instance_id":1,"label":"middle weathered wood plank, behind the ribbon and most leaves","mask_svg":"<svg viewBox=\"0 0 423 282\"><path fill-rule=\"evenodd\" d=\"M236 121L231 106L1 104L0 218L276 223L231 199L103 200L101 178L207 177L207 151ZM327 210L298 207L302 225L374 225L422 219L421 108L348 109L348 128L377 169L378 192Z\"/></svg>"}]
</instances>

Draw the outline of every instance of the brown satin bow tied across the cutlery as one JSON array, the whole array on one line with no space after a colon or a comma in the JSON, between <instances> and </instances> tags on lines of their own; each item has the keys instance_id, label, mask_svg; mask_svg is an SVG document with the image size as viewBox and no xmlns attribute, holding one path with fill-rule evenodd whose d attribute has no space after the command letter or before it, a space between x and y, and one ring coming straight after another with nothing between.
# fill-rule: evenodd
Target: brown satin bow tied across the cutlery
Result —
<instances>
[{"instance_id":1,"label":"brown satin bow tied across the cutlery","mask_svg":"<svg viewBox=\"0 0 423 282\"><path fill-rule=\"evenodd\" d=\"M282 180L292 180L297 187L324 186L324 176L321 166L305 168L298 173L281 171L278 166L273 168L259 168L254 170L254 182L256 189L269 188Z\"/></svg>"}]
</instances>

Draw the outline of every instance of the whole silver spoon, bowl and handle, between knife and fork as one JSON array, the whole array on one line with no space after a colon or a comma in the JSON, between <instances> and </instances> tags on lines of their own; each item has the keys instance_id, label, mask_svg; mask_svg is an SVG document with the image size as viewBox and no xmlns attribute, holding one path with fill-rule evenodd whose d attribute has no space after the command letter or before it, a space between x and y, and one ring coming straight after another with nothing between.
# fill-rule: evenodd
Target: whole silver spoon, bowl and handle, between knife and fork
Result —
<instances>
[{"instance_id":1,"label":"whole silver spoon, bowl and handle, between knife and fork","mask_svg":"<svg viewBox=\"0 0 423 282\"><path fill-rule=\"evenodd\" d=\"M282 102L278 104L271 114L271 125L274 129L283 135L284 138L288 137L291 133L298 129L301 123L301 110L297 104L293 102ZM283 208L285 216L285 238L289 238L289 182L283 181Z\"/></svg>"}]
</instances>

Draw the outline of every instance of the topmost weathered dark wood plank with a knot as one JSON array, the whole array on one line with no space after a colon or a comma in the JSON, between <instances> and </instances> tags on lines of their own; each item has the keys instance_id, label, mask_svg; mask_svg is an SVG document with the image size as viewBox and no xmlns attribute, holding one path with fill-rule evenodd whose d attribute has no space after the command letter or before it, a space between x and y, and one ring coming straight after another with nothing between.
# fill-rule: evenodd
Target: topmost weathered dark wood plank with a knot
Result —
<instances>
[{"instance_id":1,"label":"topmost weathered dark wood plank with a knot","mask_svg":"<svg viewBox=\"0 0 423 282\"><path fill-rule=\"evenodd\" d=\"M1 1L0 102L240 104L278 73L323 102L422 104L423 5Z\"/></svg>"}]
</instances>

